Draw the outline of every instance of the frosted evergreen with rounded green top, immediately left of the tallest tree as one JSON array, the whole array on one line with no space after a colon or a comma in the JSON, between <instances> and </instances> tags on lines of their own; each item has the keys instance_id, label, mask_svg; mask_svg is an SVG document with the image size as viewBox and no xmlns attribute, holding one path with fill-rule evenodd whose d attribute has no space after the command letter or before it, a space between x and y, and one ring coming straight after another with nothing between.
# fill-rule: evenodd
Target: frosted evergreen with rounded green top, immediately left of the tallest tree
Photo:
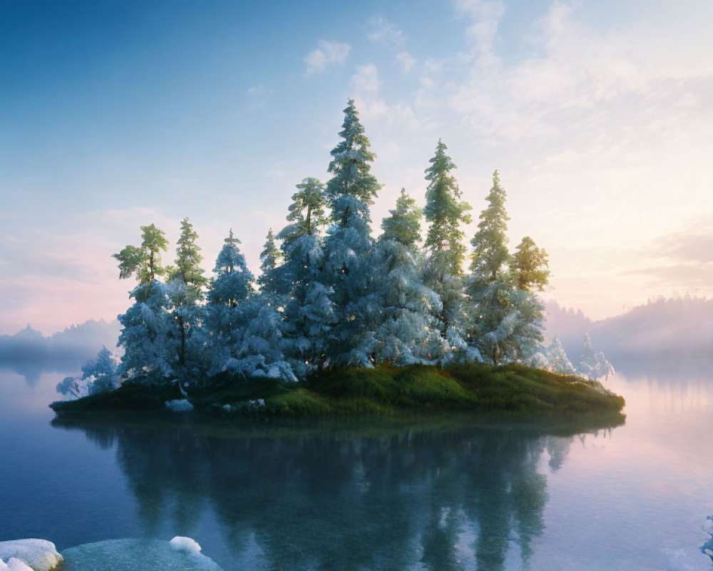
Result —
<instances>
[{"instance_id":1,"label":"frosted evergreen with rounded green top, immediately left of the tallest tree","mask_svg":"<svg viewBox=\"0 0 713 571\"><path fill-rule=\"evenodd\" d=\"M280 233L284 276L292 285L284 308L282 347L294 373L304 378L327 359L327 339L334 320L332 289L324 283L324 249L319 234L325 223L323 186L305 178L292 195Z\"/></svg>"}]
</instances>

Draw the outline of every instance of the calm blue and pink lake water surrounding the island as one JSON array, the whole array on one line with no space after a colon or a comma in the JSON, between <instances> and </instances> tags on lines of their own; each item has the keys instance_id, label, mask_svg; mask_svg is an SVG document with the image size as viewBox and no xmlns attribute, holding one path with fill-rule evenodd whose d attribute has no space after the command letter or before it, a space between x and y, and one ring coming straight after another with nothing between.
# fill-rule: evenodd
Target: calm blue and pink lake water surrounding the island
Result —
<instances>
[{"instance_id":1,"label":"calm blue and pink lake water surrounding the island","mask_svg":"<svg viewBox=\"0 0 713 571\"><path fill-rule=\"evenodd\" d=\"M188 535L238 570L709 570L712 363L622 366L613 428L53 421L0 368L0 540ZM76 374L76 370L66 374Z\"/></svg>"}]
</instances>

